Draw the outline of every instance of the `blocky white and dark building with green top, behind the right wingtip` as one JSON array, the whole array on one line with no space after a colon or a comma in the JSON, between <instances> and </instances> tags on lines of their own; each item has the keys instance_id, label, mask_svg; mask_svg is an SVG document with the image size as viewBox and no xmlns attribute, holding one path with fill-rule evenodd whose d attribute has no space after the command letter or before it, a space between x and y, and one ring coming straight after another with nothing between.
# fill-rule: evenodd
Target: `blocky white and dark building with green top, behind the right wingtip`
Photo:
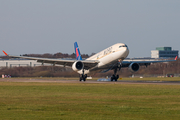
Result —
<instances>
[{"instance_id":1,"label":"blocky white and dark building with green top, behind the right wingtip","mask_svg":"<svg viewBox=\"0 0 180 120\"><path fill-rule=\"evenodd\" d=\"M179 56L178 50L172 50L171 47L157 47L151 51L151 58L175 58Z\"/></svg>"}]
</instances>

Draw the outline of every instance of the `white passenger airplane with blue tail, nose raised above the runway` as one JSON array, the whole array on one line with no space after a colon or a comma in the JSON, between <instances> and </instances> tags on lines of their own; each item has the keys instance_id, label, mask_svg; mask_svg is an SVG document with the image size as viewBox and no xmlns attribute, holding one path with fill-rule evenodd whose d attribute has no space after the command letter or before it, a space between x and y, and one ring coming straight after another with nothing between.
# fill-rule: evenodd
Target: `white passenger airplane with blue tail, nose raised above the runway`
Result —
<instances>
[{"instance_id":1,"label":"white passenger airplane with blue tail, nose raised above the runway","mask_svg":"<svg viewBox=\"0 0 180 120\"><path fill-rule=\"evenodd\" d=\"M75 60L13 56L8 55L5 51L3 51L3 53L6 56L14 58L37 60L37 62L41 62L42 64L49 63L53 65L63 65L64 67L70 66L74 71L80 74L79 81L86 81L87 74L97 70L102 70L102 72L114 70L114 74L111 76L111 81L117 81L117 79L119 78L119 75L117 75L117 71L121 70L121 68L128 67L130 71L136 72L139 70L140 66L143 65L147 67L151 63L171 62L177 60L177 56L174 60L125 59L129 54L129 48L124 43L114 44L85 60L83 60L81 57L77 42L74 43L74 49L76 55Z\"/></svg>"}]
</instances>

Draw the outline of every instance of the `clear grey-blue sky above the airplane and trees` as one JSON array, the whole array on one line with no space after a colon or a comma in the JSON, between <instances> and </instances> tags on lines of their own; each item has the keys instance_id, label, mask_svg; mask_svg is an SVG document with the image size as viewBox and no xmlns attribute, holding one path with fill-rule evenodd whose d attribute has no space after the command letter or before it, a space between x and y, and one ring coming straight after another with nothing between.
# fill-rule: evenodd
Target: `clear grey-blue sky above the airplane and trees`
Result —
<instances>
[{"instance_id":1,"label":"clear grey-blue sky above the airplane and trees","mask_svg":"<svg viewBox=\"0 0 180 120\"><path fill-rule=\"evenodd\" d=\"M179 0L0 0L0 48L9 54L97 53L125 43L128 57L180 50ZM0 52L0 55L3 55Z\"/></svg>"}]
</instances>

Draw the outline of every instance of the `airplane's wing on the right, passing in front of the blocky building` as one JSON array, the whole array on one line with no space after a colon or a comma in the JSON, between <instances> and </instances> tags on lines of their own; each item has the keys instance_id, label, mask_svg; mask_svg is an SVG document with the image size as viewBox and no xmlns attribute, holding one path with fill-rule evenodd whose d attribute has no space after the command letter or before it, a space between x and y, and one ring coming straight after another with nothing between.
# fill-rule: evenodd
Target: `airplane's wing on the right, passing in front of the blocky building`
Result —
<instances>
[{"instance_id":1,"label":"airplane's wing on the right, passing in front of the blocky building","mask_svg":"<svg viewBox=\"0 0 180 120\"><path fill-rule=\"evenodd\" d=\"M125 59L122 62L122 67L128 67L131 63L138 63L140 66L142 65L150 65L151 63L159 63L159 62L172 62L176 61L177 57L174 60L170 59Z\"/></svg>"}]
</instances>

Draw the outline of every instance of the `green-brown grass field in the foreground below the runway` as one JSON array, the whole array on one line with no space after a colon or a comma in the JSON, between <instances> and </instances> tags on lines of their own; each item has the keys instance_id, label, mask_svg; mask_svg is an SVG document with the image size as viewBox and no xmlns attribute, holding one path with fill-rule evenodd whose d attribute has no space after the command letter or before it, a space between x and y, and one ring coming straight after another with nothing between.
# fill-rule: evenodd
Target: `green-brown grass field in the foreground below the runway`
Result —
<instances>
[{"instance_id":1,"label":"green-brown grass field in the foreground below the runway","mask_svg":"<svg viewBox=\"0 0 180 120\"><path fill-rule=\"evenodd\" d=\"M0 82L0 119L179 120L180 85Z\"/></svg>"}]
</instances>

